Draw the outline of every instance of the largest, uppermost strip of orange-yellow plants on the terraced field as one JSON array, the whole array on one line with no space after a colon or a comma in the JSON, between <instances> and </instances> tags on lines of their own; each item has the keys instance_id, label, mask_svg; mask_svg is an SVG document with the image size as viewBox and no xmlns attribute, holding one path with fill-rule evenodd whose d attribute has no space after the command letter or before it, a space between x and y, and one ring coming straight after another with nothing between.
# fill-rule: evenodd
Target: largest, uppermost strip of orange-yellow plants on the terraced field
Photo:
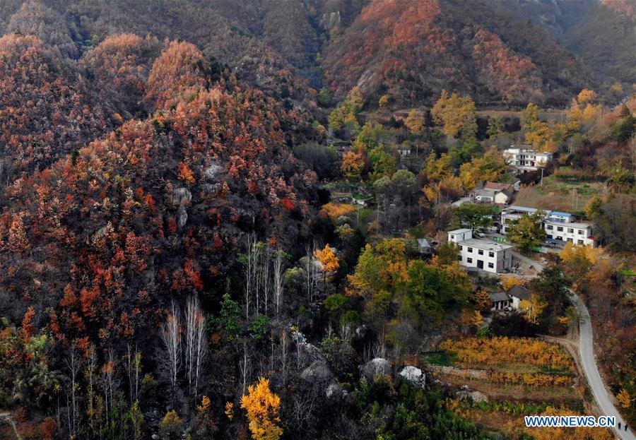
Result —
<instances>
[{"instance_id":1,"label":"largest, uppermost strip of orange-yellow plants on the terraced field","mask_svg":"<svg viewBox=\"0 0 636 440\"><path fill-rule=\"evenodd\" d=\"M440 350L455 353L464 364L529 364L572 371L570 359L558 345L530 338L446 340Z\"/></svg>"}]
</instances>

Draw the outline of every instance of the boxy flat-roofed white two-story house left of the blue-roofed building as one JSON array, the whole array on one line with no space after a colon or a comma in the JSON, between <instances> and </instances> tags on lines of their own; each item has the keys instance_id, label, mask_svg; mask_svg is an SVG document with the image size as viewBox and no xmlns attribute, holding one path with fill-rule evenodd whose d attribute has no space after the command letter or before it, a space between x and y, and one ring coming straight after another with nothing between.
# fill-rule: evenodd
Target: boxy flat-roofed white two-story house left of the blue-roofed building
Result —
<instances>
[{"instance_id":1,"label":"boxy flat-roofed white two-story house left of the blue-roofed building","mask_svg":"<svg viewBox=\"0 0 636 440\"><path fill-rule=\"evenodd\" d=\"M469 229L448 233L448 241L459 246L457 259L461 266L500 273L512 267L512 246L488 239L474 239Z\"/></svg>"}]
</instances>

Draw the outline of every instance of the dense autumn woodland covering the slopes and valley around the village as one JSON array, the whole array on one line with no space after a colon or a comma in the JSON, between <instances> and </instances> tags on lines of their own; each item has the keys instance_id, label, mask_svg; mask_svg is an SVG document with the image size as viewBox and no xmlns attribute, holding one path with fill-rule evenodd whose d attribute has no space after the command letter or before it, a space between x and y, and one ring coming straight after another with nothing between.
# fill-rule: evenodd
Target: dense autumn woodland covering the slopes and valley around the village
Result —
<instances>
[{"instance_id":1,"label":"dense autumn woodland covering the slopes and valley around the village","mask_svg":"<svg viewBox=\"0 0 636 440\"><path fill-rule=\"evenodd\" d=\"M563 335L572 287L636 424L636 78L622 52L597 75L580 30L624 3L558 35L481 0L1 1L3 417L22 439L501 439L397 371ZM441 237L488 226L450 203L512 182L514 142L602 182L577 214L604 250L553 254L484 327L506 286ZM572 371L538 341L513 360ZM555 371L491 376L571 385Z\"/></svg>"}]
</instances>

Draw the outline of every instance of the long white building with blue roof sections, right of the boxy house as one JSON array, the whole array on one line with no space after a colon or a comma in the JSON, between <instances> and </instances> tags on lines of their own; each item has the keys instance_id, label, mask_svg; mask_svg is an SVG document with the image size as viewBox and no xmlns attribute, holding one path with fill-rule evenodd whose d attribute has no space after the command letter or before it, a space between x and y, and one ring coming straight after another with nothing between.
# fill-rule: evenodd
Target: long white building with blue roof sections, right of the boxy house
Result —
<instances>
[{"instance_id":1,"label":"long white building with blue roof sections, right of the boxy house","mask_svg":"<svg viewBox=\"0 0 636 440\"><path fill-rule=\"evenodd\" d=\"M522 215L536 213L535 208L525 206L509 206L501 212L501 232L506 234L510 228L510 222L517 220ZM546 241L553 243L571 242L583 246L596 247L596 239L592 234L593 228L590 223L575 222L574 216L570 213L560 211L542 211L543 229L546 230Z\"/></svg>"}]
</instances>

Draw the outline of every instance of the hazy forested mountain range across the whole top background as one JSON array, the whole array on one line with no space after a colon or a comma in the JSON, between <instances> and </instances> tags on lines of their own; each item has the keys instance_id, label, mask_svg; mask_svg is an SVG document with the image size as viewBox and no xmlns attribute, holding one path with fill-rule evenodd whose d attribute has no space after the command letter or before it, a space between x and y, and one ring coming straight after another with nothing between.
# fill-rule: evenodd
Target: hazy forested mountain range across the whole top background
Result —
<instances>
[{"instance_id":1,"label":"hazy forested mountain range across the whole top background","mask_svg":"<svg viewBox=\"0 0 636 440\"><path fill-rule=\"evenodd\" d=\"M338 97L360 85L365 97L388 95L396 105L429 102L441 88L484 104L564 105L584 86L607 90L636 76L634 11L622 0L21 5L3 2L0 31L33 33L73 58L116 33L180 38L251 85L297 101L311 96L305 79Z\"/></svg>"}]
</instances>

